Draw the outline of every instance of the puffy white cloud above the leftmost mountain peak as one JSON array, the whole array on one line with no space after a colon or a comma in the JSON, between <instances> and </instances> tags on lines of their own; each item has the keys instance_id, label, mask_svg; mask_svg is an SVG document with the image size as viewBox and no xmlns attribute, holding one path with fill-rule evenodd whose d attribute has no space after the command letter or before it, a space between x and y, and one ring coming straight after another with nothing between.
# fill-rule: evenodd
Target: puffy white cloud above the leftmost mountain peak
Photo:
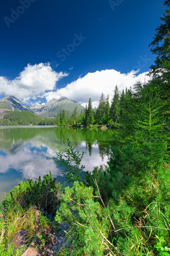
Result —
<instances>
[{"instance_id":1,"label":"puffy white cloud above the leftmost mountain peak","mask_svg":"<svg viewBox=\"0 0 170 256\"><path fill-rule=\"evenodd\" d=\"M37 95L55 90L56 82L67 75L53 71L50 63L28 64L13 80L0 76L0 94L14 95L26 104L30 99L36 100Z\"/></svg>"}]
</instances>

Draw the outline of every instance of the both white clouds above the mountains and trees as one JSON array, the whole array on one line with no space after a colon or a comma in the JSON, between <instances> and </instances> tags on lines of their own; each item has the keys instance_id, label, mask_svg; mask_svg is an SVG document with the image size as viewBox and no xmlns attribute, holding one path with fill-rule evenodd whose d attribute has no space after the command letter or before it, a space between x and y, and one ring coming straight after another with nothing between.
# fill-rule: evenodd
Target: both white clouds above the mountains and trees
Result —
<instances>
[{"instance_id":1,"label":"both white clouds above the mountains and trees","mask_svg":"<svg viewBox=\"0 0 170 256\"><path fill-rule=\"evenodd\" d=\"M142 82L144 82L144 78L146 81L149 79L148 76L145 76L148 72L142 74L138 74L138 72L139 70L124 74L113 69L96 71L88 73L84 77L79 76L77 80L67 84L65 88L57 89L56 82L68 74L55 72L50 63L28 64L13 80L0 76L0 94L14 95L23 104L28 104L31 99L36 100L38 97L48 101L64 96L76 100L83 106L88 104L91 97L94 107L98 106L101 93L106 96L109 94L111 101L116 84L119 91L122 92L126 87L132 87L139 79Z\"/></svg>"}]
</instances>

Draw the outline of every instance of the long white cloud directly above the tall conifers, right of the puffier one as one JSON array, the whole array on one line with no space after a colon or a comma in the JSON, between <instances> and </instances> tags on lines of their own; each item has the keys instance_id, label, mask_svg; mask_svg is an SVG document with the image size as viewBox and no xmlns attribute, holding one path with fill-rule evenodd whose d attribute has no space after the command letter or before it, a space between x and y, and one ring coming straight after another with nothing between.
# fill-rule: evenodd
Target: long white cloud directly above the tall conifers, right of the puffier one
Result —
<instances>
[{"instance_id":1,"label":"long white cloud directly above the tall conifers, right of the puffier one","mask_svg":"<svg viewBox=\"0 0 170 256\"><path fill-rule=\"evenodd\" d=\"M146 76L148 72L138 74L138 71L131 71L130 73L124 74L116 70L102 70L94 73L88 73L84 77L79 77L76 81L73 81L65 88L58 89L57 91L44 93L42 97L46 100L52 98L67 97L72 100L76 100L82 105L88 103L91 97L93 107L98 105L101 93L110 96L110 100L114 95L114 88L117 84L120 92L125 90L126 87L129 89L137 80L144 82L144 79L148 80Z\"/></svg>"}]
</instances>

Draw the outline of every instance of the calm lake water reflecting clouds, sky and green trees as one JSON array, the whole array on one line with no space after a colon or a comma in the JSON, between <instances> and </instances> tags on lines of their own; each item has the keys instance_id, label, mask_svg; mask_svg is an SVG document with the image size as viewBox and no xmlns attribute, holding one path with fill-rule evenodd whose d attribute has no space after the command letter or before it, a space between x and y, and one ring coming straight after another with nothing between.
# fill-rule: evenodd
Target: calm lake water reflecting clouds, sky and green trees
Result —
<instances>
[{"instance_id":1,"label":"calm lake water reflecting clouds, sky and green trees","mask_svg":"<svg viewBox=\"0 0 170 256\"><path fill-rule=\"evenodd\" d=\"M107 138L112 132L90 129L68 129L49 126L0 126L0 202L19 181L35 180L51 170L57 181L64 183L61 167L53 163L57 146L64 152L65 138L72 146L86 151L85 170L107 164Z\"/></svg>"}]
</instances>

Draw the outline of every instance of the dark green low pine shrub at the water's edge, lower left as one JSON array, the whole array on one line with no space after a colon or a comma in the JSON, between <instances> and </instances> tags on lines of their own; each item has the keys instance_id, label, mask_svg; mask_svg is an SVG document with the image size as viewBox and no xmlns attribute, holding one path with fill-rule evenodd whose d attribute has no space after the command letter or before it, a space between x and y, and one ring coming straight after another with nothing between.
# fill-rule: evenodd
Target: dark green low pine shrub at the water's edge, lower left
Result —
<instances>
[{"instance_id":1,"label":"dark green low pine shrub at the water's edge, lower left","mask_svg":"<svg viewBox=\"0 0 170 256\"><path fill-rule=\"evenodd\" d=\"M61 188L60 183L57 184L56 179L53 179L52 173L44 175L43 180L39 177L35 182L28 179L27 182L20 181L18 186L15 186L2 201L7 200L10 207L21 207L28 209L30 204L37 206L44 215L54 215L58 205L57 193Z\"/></svg>"}]
</instances>

